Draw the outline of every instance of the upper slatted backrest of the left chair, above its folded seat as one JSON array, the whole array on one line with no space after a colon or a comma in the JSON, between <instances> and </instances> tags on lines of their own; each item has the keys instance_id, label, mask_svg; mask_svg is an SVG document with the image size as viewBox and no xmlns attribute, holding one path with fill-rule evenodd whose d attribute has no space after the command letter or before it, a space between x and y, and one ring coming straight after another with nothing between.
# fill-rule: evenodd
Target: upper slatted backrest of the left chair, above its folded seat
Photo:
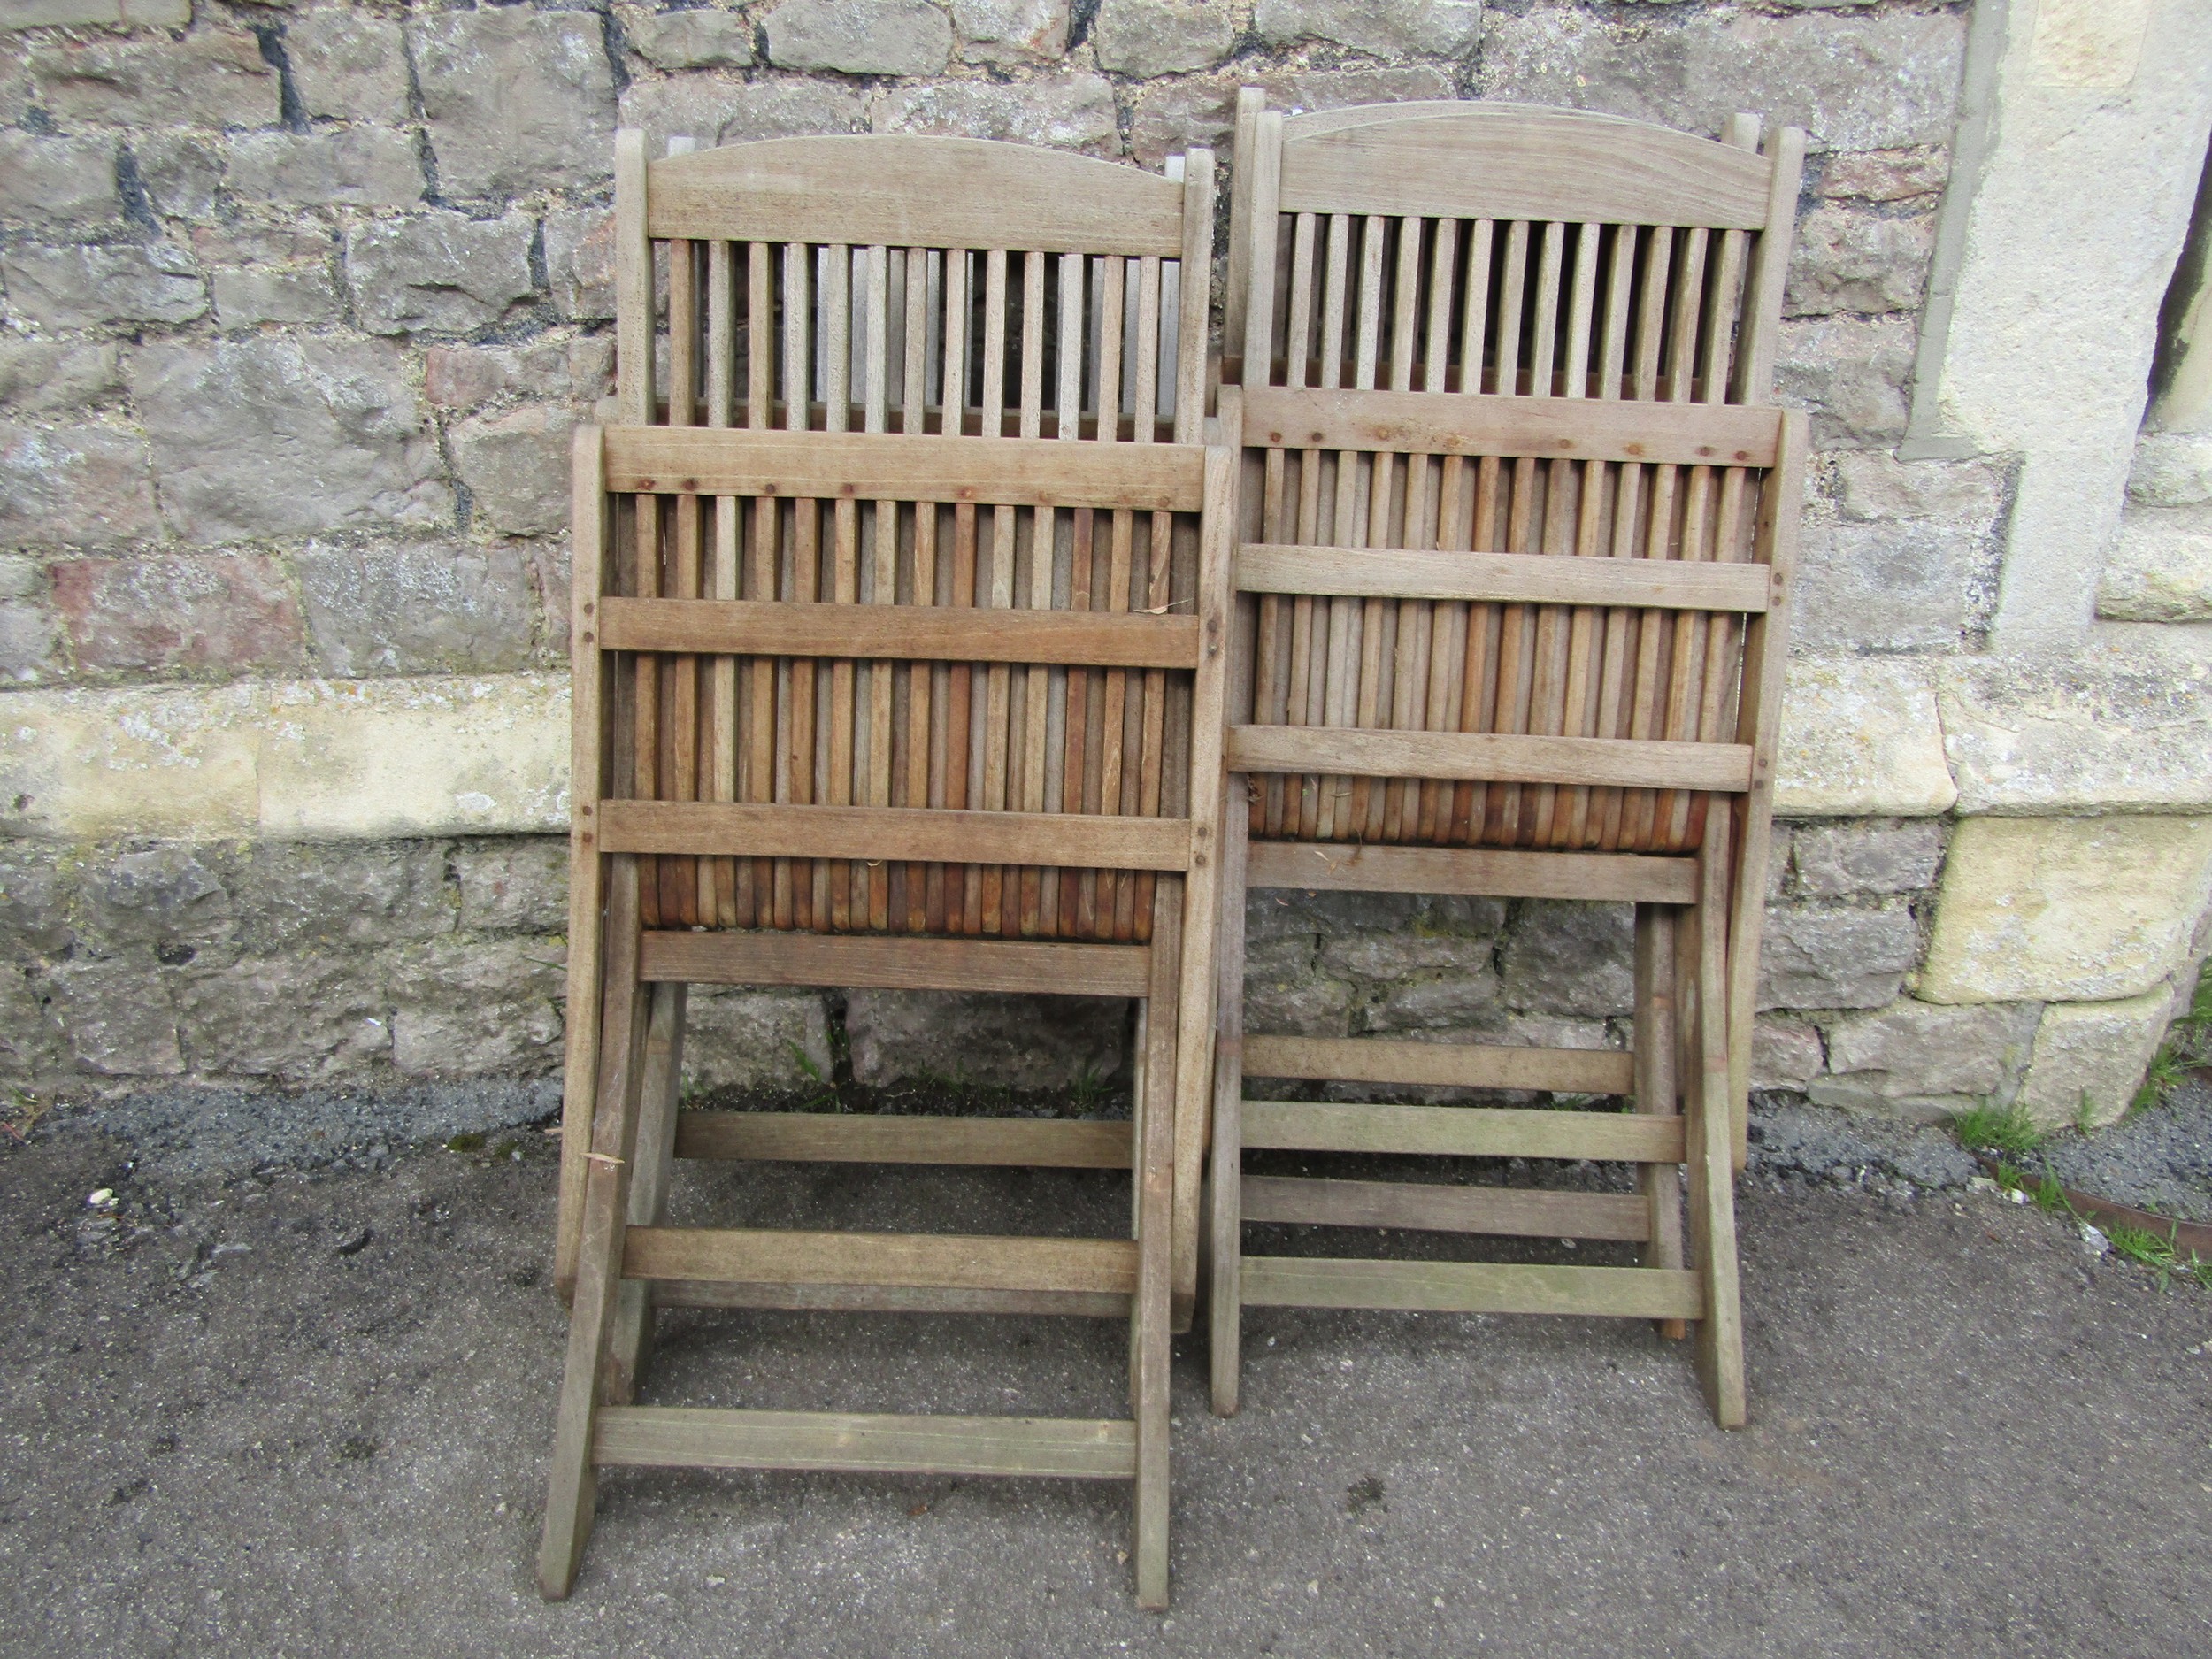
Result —
<instances>
[{"instance_id":1,"label":"upper slatted backrest of the left chair, above its folded seat","mask_svg":"<svg viewBox=\"0 0 2212 1659\"><path fill-rule=\"evenodd\" d=\"M1210 150L1175 179L958 137L670 148L615 137L626 422L1199 440Z\"/></svg>"}]
</instances>

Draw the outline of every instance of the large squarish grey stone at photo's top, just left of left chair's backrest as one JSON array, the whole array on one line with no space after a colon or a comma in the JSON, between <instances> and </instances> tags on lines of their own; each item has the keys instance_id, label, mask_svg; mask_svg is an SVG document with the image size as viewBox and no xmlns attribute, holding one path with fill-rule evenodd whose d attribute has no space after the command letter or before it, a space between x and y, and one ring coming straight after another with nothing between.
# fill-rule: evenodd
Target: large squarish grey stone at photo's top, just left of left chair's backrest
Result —
<instances>
[{"instance_id":1,"label":"large squarish grey stone at photo's top, just left of left chair's backrest","mask_svg":"<svg viewBox=\"0 0 2212 1659\"><path fill-rule=\"evenodd\" d=\"M613 173L615 71L595 11L484 7L414 24L447 197L588 190Z\"/></svg>"}]
</instances>

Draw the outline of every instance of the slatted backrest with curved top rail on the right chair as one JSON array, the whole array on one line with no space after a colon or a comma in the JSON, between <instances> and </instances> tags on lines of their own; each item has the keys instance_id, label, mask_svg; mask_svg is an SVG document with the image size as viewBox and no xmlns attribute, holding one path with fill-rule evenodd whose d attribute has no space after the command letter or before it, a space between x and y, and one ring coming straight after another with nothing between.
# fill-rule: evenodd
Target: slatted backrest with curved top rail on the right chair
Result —
<instances>
[{"instance_id":1,"label":"slatted backrest with curved top rail on the right chair","mask_svg":"<svg viewBox=\"0 0 2212 1659\"><path fill-rule=\"evenodd\" d=\"M1225 378L1765 403L1805 135L1239 104Z\"/></svg>"}]
</instances>

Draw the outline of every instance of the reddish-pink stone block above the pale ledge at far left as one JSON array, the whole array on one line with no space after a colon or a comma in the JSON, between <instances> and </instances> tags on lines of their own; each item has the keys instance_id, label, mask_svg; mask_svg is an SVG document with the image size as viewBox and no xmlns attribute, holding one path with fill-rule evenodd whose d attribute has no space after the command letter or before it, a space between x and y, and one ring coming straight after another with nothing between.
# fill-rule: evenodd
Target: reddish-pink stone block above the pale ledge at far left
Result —
<instances>
[{"instance_id":1,"label":"reddish-pink stone block above the pale ledge at far left","mask_svg":"<svg viewBox=\"0 0 2212 1659\"><path fill-rule=\"evenodd\" d=\"M243 675L299 668L299 606L265 553L69 560L53 604L77 668Z\"/></svg>"}]
</instances>

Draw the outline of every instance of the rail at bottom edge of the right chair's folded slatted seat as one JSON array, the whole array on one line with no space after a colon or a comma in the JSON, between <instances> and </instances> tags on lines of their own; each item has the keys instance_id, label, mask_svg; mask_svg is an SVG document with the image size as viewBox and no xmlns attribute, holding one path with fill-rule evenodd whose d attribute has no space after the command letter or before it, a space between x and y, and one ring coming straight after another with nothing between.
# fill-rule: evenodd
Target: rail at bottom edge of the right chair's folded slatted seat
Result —
<instances>
[{"instance_id":1,"label":"rail at bottom edge of the right chair's folded slatted seat","mask_svg":"<svg viewBox=\"0 0 2212 1659\"><path fill-rule=\"evenodd\" d=\"M1478 894L1484 898L1615 898L1697 902L1694 858L1632 852L1515 852L1495 847L1376 847L1254 841L1248 887L1340 894Z\"/></svg>"}]
</instances>

